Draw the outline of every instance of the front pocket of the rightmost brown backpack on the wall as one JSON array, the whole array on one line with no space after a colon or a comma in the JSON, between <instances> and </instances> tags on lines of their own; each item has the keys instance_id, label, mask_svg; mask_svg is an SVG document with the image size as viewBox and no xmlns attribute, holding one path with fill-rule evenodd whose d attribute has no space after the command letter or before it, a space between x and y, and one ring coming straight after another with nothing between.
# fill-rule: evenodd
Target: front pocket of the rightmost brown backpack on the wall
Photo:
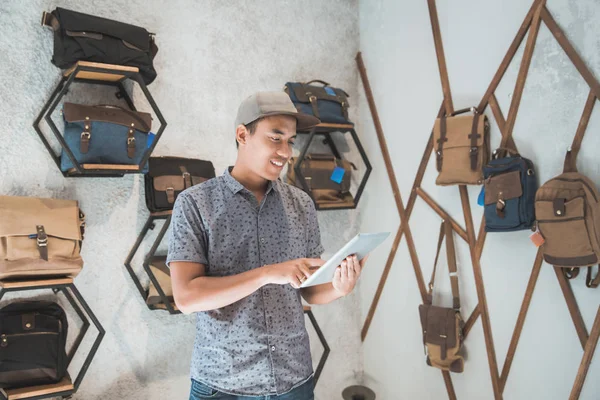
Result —
<instances>
[{"instance_id":1,"label":"front pocket of the rightmost brown backpack on the wall","mask_svg":"<svg viewBox=\"0 0 600 400\"><path fill-rule=\"evenodd\" d=\"M544 259L553 265L578 267L597 262L585 223L585 199L576 197L565 203L557 216L552 201L535 203L538 226L544 242Z\"/></svg>"}]
</instances>

